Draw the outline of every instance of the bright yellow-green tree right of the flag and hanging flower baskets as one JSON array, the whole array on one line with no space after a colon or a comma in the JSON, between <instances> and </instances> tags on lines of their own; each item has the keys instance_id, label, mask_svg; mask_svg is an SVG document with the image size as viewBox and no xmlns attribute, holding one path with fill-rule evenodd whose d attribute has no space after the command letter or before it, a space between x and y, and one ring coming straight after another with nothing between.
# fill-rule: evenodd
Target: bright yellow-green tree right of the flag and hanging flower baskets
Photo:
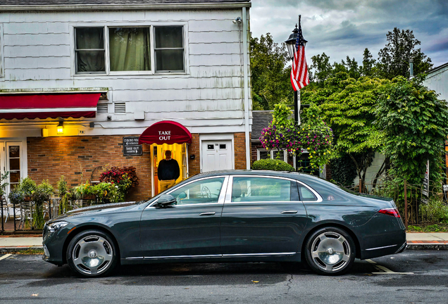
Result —
<instances>
[{"instance_id":1,"label":"bright yellow-green tree right of the flag and hanging flower baskets","mask_svg":"<svg viewBox=\"0 0 448 304\"><path fill-rule=\"evenodd\" d=\"M382 132L373 124L379 89L387 83L372 77L349 77L338 72L322 89L307 92L304 102L317 103L321 115L335 134L336 156L348 155L361 183L375 151L380 151Z\"/></svg>"}]
</instances>

